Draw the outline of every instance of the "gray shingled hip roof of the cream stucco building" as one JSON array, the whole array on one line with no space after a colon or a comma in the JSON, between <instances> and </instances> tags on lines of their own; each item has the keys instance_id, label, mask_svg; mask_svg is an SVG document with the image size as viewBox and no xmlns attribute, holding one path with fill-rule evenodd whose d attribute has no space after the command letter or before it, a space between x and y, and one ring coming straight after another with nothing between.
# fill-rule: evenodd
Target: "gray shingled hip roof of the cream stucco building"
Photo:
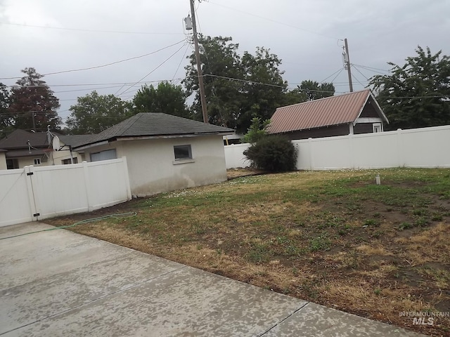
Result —
<instances>
[{"instance_id":1,"label":"gray shingled hip roof of the cream stucco building","mask_svg":"<svg viewBox=\"0 0 450 337\"><path fill-rule=\"evenodd\" d=\"M201 121L176 117L172 114L141 112L115 126L107 128L97 135L93 135L84 143L78 144L77 147L100 143L106 140L115 140L117 138L188 135L205 136L208 134L226 135L231 133L234 133L232 128L205 124Z\"/></svg>"}]
</instances>

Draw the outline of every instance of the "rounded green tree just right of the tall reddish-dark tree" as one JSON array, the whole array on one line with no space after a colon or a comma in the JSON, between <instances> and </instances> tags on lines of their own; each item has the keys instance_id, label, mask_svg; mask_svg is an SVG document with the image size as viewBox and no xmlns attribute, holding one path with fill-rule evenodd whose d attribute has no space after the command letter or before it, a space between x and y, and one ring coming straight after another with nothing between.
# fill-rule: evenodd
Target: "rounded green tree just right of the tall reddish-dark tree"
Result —
<instances>
[{"instance_id":1,"label":"rounded green tree just right of the tall reddish-dark tree","mask_svg":"<svg viewBox=\"0 0 450 337\"><path fill-rule=\"evenodd\" d=\"M99 133L130 117L131 104L115 95L98 95L96 91L77 98L70 107L66 124L72 134Z\"/></svg>"}]
</instances>

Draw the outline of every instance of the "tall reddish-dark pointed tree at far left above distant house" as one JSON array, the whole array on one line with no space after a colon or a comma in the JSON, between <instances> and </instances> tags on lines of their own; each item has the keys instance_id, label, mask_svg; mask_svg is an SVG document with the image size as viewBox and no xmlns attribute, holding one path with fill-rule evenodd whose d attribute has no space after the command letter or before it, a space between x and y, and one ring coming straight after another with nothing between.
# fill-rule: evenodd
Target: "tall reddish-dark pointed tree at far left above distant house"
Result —
<instances>
[{"instance_id":1,"label":"tall reddish-dark pointed tree at far left above distant house","mask_svg":"<svg viewBox=\"0 0 450 337\"><path fill-rule=\"evenodd\" d=\"M52 129L59 128L58 98L34 68L25 68L21 72L25 76L16 82L17 86L13 86L9 96L8 112L14 128L34 131L45 131L48 125Z\"/></svg>"}]
</instances>

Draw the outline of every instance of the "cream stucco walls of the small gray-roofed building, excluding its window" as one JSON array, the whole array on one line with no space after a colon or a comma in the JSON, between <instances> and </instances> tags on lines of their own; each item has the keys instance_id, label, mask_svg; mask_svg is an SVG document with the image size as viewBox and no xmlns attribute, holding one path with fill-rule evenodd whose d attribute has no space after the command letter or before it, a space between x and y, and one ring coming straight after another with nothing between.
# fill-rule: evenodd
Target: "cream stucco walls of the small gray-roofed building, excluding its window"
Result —
<instances>
[{"instance_id":1,"label":"cream stucco walls of the small gray-roofed building, excluding its window","mask_svg":"<svg viewBox=\"0 0 450 337\"><path fill-rule=\"evenodd\" d=\"M174 146L191 145L192 161L174 158ZM224 143L221 136L122 140L85 150L90 153L115 149L127 157L131 194L137 197L226 180Z\"/></svg>"}]
</instances>

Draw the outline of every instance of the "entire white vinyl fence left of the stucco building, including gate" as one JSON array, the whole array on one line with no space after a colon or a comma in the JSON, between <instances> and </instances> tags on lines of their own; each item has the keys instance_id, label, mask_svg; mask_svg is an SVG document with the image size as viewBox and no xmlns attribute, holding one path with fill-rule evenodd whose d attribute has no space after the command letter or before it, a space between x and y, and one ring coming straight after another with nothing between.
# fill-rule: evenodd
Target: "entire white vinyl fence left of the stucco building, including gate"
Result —
<instances>
[{"instance_id":1,"label":"entire white vinyl fence left of the stucco building, including gate","mask_svg":"<svg viewBox=\"0 0 450 337\"><path fill-rule=\"evenodd\" d=\"M0 171L0 227L130 199L126 158Z\"/></svg>"}]
</instances>

